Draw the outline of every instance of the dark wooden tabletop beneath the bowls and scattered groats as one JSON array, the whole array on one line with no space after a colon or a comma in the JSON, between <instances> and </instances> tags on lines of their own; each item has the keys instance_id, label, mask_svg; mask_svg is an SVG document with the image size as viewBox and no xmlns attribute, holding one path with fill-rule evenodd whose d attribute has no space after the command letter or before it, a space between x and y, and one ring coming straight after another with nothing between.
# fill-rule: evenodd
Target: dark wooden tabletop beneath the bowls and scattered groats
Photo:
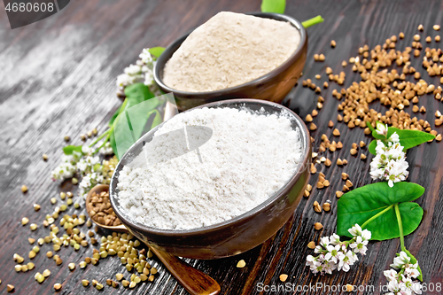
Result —
<instances>
[{"instance_id":1,"label":"dark wooden tabletop beneath the bowls and scattered groats","mask_svg":"<svg viewBox=\"0 0 443 295\"><path fill-rule=\"evenodd\" d=\"M69 135L74 144L80 144L79 136L92 128L105 130L111 113L120 105L115 97L115 78L125 66L133 63L144 47L167 46L190 28L197 27L216 12L253 12L260 10L259 0L248 1L71 1L62 12L38 23L12 30L9 27L3 6L0 12L0 292L6 292L6 284L15 285L20 294L45 294L53 291L54 283L63 283L63 294L99 293L95 289L82 287L81 280L97 279L104 283L123 271L120 261L115 258L101 260L97 267L70 272L68 262L78 264L85 256L90 256L92 247L73 252L63 248L60 256L64 260L61 267L55 266L44 253L50 250L43 245L33 260L36 268L27 273L14 271L13 253L27 259L31 245L28 237L41 237L47 234L42 221L46 213L51 213L50 198L57 197L61 190L70 190L67 184L61 187L51 181L51 170L58 165L63 137ZM304 78L314 79L324 69L331 66L341 70L342 60L357 54L364 44L374 47L383 43L391 35L401 31L406 38L401 47L412 41L419 24L424 25L421 35L436 35L434 24L440 24L443 16L441 1L288 1L286 13L296 19L309 19L321 14L325 21L321 25L307 29L309 51ZM337 48L330 49L330 40L337 42ZM312 56L324 53L326 61L315 63ZM422 54L423 56L423 54ZM416 69L421 58L413 58ZM346 72L346 85L360 81L350 66ZM439 85L438 78L429 79ZM315 118L318 129L312 133L315 146L320 143L323 133L330 135L327 122L336 122L338 100L331 97L334 85L322 90L326 101L323 110ZM427 113L419 114L433 126L433 113L443 110L441 103L432 96L421 100ZM286 105L305 116L315 108L316 95L309 89L297 86ZM377 110L385 106L375 104ZM407 109L411 112L411 107ZM304 198L293 217L275 237L263 245L236 257L222 260L191 260L190 263L213 276L220 284L222 294L256 294L263 285L284 285L279 280L281 274L289 275L287 283L315 286L316 283L337 285L351 283L357 286L374 285L379 293L380 284L385 284L383 270L389 268L395 252L399 251L399 239L373 242L369 251L349 273L334 273L332 276L313 276L305 267L305 260L312 251L307 243L335 231L337 198L335 191L343 183L341 172L351 175L354 186L371 182L369 162L353 158L349 149L353 142L363 140L367 144L369 136L364 136L361 128L349 130L338 124L340 140L345 144L341 151L329 154L332 162L346 158L346 167L322 169L330 180L330 187L314 190L310 198ZM442 128L437 128L441 133ZM420 227L406 238L408 249L416 255L424 271L424 282L443 281L443 189L442 176L443 145L423 144L408 151L410 164L409 181L424 186L426 192L417 203L424 208L424 220ZM49 160L44 162L42 154ZM369 155L369 154L368 154ZM311 178L314 185L317 175ZM20 186L26 184L29 191L21 193ZM314 201L323 204L330 199L330 213L315 213ZM40 212L33 210L33 204L42 205ZM74 208L70 209L74 212ZM73 213L73 212L69 213ZM27 216L30 222L39 224L39 229L31 232L22 227L20 220ZM322 231L315 231L313 224L320 221ZM245 268L236 268L238 260L245 260ZM154 283L143 283L134 290L118 290L105 286L104 293L134 294L185 294L167 270L157 260L159 276ZM51 276L43 283L35 282L36 271L49 268ZM266 292L272 294L299 293L297 291ZM326 289L310 290L308 294L332 294L338 292ZM357 293L371 294L371 291ZM441 292L427 292L441 294Z\"/></svg>"}]
</instances>

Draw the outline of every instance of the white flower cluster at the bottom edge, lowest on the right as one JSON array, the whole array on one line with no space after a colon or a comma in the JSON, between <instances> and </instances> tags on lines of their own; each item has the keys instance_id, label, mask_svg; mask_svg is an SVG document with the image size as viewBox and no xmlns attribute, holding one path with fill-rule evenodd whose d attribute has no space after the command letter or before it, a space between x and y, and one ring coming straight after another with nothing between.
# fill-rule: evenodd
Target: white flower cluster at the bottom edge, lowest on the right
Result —
<instances>
[{"instance_id":1,"label":"white flower cluster at the bottom edge, lowest on the right","mask_svg":"<svg viewBox=\"0 0 443 295\"><path fill-rule=\"evenodd\" d=\"M385 295L414 295L422 293L422 284L415 279L420 276L418 262L412 264L406 252L400 252L399 256L393 259L391 268L385 270L384 275L388 281L387 288L390 291Z\"/></svg>"}]
</instances>

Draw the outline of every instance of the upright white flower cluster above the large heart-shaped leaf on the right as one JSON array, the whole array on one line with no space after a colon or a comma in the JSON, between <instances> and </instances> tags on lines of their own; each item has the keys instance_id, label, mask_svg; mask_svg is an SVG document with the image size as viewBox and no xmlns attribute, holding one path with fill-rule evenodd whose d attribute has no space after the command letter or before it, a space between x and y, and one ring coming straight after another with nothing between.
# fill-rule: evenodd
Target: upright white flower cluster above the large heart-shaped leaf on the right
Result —
<instances>
[{"instance_id":1,"label":"upright white flower cluster above the large heart-shaped leaf on the right","mask_svg":"<svg viewBox=\"0 0 443 295\"><path fill-rule=\"evenodd\" d=\"M387 136L387 127L384 124L377 124L376 131L380 135ZM382 140L377 140L376 152L376 157L370 162L370 176L372 179L387 181L389 186L392 187L394 182L404 181L408 177L409 165L397 133L394 132L387 139L387 144Z\"/></svg>"}]
</instances>

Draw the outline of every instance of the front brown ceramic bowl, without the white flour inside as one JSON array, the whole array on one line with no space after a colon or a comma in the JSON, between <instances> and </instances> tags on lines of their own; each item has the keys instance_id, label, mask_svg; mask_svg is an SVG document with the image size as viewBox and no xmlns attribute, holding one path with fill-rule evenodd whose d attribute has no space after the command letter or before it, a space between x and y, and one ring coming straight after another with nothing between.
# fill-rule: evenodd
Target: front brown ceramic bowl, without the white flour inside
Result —
<instances>
[{"instance_id":1,"label":"front brown ceramic bowl, without the white flour inside","mask_svg":"<svg viewBox=\"0 0 443 295\"><path fill-rule=\"evenodd\" d=\"M269 237L272 237L288 221L298 206L309 179L311 142L309 132L303 120L283 105L258 99L231 99L201 105L197 108L202 107L246 107L253 111L260 110L263 107L267 113L286 113L291 118L292 128L299 128L304 146L303 160L300 167L274 196L268 198L268 200L251 211L229 221L189 230L152 228L131 221L122 213L119 204L119 190L117 190L120 170L142 151L143 142L150 142L153 134L163 124L153 128L129 148L128 152L120 159L117 167L115 167L110 184L111 204L120 221L134 236L144 241L147 245L176 256L208 260L232 256L253 249L253 247L262 244Z\"/></svg>"}]
</instances>

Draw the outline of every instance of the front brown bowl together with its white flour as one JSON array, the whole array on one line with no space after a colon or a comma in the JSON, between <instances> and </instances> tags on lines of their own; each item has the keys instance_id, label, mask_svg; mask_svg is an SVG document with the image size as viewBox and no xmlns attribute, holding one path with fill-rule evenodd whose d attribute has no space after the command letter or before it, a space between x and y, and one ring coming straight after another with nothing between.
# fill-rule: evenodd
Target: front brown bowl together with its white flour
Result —
<instances>
[{"instance_id":1,"label":"front brown bowl together with its white flour","mask_svg":"<svg viewBox=\"0 0 443 295\"><path fill-rule=\"evenodd\" d=\"M306 125L282 105L202 105L152 129L120 159L113 208L136 237L177 256L245 252L293 213L310 153Z\"/></svg>"}]
</instances>

